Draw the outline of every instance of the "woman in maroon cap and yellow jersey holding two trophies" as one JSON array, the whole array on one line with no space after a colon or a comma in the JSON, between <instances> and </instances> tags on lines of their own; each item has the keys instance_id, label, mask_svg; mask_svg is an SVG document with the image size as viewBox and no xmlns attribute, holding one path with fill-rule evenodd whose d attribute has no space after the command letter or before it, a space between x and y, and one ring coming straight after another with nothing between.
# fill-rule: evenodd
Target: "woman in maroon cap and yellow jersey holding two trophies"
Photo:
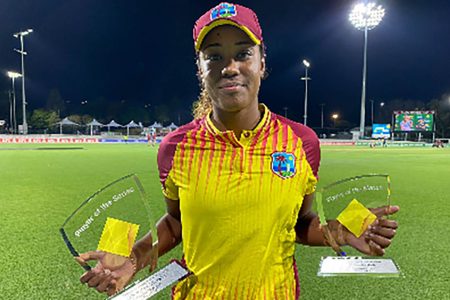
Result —
<instances>
[{"instance_id":1,"label":"woman in maroon cap and yellow jersey holding two trophies","mask_svg":"<svg viewBox=\"0 0 450 300\"><path fill-rule=\"evenodd\" d=\"M174 287L174 299L298 298L296 242L383 255L397 224L381 217L398 207L374 211L379 219L360 238L337 221L326 238L311 212L319 142L258 101L265 54L255 13L221 3L197 20L194 43L202 87L195 120L169 134L158 153L167 203L158 252L183 240L192 273ZM144 238L122 268L105 272L100 260L81 281L112 294L149 263L150 248Z\"/></svg>"}]
</instances>

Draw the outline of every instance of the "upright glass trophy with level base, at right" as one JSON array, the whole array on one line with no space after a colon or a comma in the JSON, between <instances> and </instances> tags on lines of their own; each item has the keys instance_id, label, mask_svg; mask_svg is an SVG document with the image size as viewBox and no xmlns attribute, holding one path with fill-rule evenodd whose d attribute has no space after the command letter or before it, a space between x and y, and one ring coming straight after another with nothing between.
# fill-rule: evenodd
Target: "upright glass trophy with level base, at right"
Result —
<instances>
[{"instance_id":1,"label":"upright glass trophy with level base, at right","mask_svg":"<svg viewBox=\"0 0 450 300\"><path fill-rule=\"evenodd\" d=\"M390 196L390 178L384 174L346 178L316 193L320 224L336 251L335 256L322 257L318 276L400 276L391 258L362 257L350 246L339 247L327 224L327 220L337 220L346 230L360 237L377 219L370 209L389 206Z\"/></svg>"}]
</instances>

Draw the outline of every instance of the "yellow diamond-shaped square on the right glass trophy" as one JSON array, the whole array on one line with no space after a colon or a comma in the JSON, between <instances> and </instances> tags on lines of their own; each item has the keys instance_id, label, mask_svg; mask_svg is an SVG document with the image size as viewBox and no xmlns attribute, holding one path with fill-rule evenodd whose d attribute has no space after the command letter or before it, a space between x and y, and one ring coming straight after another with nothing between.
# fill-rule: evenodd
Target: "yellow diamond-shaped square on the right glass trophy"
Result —
<instances>
[{"instance_id":1,"label":"yellow diamond-shaped square on the right glass trophy","mask_svg":"<svg viewBox=\"0 0 450 300\"><path fill-rule=\"evenodd\" d=\"M360 237L377 216L353 199L336 219L356 237Z\"/></svg>"}]
</instances>

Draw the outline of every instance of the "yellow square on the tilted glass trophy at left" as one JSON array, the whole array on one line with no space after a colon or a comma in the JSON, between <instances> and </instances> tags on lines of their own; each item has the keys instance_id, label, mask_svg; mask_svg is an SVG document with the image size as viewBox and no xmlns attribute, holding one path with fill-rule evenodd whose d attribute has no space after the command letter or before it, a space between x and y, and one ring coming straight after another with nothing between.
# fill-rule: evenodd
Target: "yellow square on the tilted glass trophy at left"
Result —
<instances>
[{"instance_id":1,"label":"yellow square on the tilted glass trophy at left","mask_svg":"<svg viewBox=\"0 0 450 300\"><path fill-rule=\"evenodd\" d=\"M97 250L129 257L139 225L107 218Z\"/></svg>"}]
</instances>

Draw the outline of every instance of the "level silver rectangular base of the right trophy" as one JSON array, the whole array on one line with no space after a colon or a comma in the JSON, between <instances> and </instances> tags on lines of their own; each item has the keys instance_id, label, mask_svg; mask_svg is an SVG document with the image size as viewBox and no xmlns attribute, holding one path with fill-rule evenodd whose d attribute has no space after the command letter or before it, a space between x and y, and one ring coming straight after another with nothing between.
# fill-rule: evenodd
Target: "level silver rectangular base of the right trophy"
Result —
<instances>
[{"instance_id":1,"label":"level silver rectangular base of the right trophy","mask_svg":"<svg viewBox=\"0 0 450 300\"><path fill-rule=\"evenodd\" d=\"M327 256L322 257L317 276L399 277L400 270L390 258Z\"/></svg>"}]
</instances>

